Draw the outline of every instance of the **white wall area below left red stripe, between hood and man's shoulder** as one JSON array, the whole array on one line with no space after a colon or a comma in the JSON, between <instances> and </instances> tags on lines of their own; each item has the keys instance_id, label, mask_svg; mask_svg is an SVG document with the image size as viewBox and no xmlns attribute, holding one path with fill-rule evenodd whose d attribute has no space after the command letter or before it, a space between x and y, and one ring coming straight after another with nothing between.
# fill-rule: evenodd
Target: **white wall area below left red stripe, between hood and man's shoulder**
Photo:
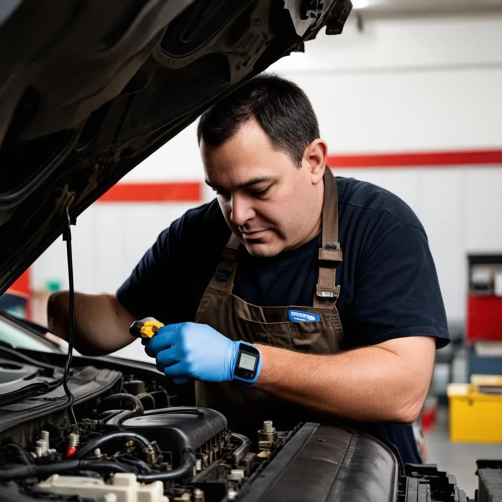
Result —
<instances>
[{"instance_id":1,"label":"white wall area below left red stripe, between hood and man's shoulder","mask_svg":"<svg viewBox=\"0 0 502 502\"><path fill-rule=\"evenodd\" d=\"M75 289L114 292L158 234L195 203L98 203L72 227ZM66 243L54 242L32 267L32 288L51 279L68 287Z\"/></svg>"}]
</instances>

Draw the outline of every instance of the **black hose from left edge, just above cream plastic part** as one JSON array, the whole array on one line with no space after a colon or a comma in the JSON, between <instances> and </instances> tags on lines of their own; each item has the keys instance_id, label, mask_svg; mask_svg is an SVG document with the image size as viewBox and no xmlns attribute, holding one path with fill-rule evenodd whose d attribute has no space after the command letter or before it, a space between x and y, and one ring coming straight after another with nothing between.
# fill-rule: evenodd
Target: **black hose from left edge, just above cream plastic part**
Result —
<instances>
[{"instance_id":1,"label":"black hose from left edge, just above cream plastic part","mask_svg":"<svg viewBox=\"0 0 502 502\"><path fill-rule=\"evenodd\" d=\"M121 464L109 460L66 460L47 465L23 465L12 469L0 469L0 479L20 479L30 476L48 476L74 470L93 470L108 472L131 472Z\"/></svg>"}]
</instances>

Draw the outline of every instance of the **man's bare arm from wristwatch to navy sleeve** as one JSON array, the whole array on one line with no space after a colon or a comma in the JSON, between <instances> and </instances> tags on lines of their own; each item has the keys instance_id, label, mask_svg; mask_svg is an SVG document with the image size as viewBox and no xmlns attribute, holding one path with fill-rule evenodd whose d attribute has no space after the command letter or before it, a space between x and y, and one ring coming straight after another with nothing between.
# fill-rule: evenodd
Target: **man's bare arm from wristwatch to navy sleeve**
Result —
<instances>
[{"instance_id":1,"label":"man's bare arm from wristwatch to navy sleeve","mask_svg":"<svg viewBox=\"0 0 502 502\"><path fill-rule=\"evenodd\" d=\"M432 378L435 339L410 336L339 354L305 354L257 344L257 389L352 420L412 423Z\"/></svg>"}]
</instances>

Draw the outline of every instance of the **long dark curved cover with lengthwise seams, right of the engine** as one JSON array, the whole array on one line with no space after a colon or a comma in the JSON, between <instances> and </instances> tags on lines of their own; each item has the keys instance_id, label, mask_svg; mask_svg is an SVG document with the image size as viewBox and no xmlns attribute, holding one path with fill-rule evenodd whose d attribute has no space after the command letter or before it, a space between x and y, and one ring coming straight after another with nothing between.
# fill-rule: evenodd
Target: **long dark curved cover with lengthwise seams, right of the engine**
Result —
<instances>
[{"instance_id":1,"label":"long dark curved cover with lengthwise seams, right of the engine","mask_svg":"<svg viewBox=\"0 0 502 502\"><path fill-rule=\"evenodd\" d=\"M239 501L394 502L398 477L398 460L380 441L307 422L263 473L242 489Z\"/></svg>"}]
</instances>

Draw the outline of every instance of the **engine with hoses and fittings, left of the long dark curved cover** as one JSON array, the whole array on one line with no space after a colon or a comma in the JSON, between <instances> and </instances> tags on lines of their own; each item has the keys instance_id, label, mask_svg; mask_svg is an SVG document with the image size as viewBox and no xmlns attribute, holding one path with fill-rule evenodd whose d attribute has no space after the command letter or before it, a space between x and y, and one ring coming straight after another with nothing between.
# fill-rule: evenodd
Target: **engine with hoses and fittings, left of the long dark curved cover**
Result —
<instances>
[{"instance_id":1,"label":"engine with hoses and fittings, left of the long dark curved cover","mask_svg":"<svg viewBox=\"0 0 502 502\"><path fill-rule=\"evenodd\" d=\"M0 491L24 502L231 500L294 435L265 422L247 438L221 413L170 406L163 389L131 378L119 391L76 409L76 426L51 415L2 434Z\"/></svg>"}]
</instances>

